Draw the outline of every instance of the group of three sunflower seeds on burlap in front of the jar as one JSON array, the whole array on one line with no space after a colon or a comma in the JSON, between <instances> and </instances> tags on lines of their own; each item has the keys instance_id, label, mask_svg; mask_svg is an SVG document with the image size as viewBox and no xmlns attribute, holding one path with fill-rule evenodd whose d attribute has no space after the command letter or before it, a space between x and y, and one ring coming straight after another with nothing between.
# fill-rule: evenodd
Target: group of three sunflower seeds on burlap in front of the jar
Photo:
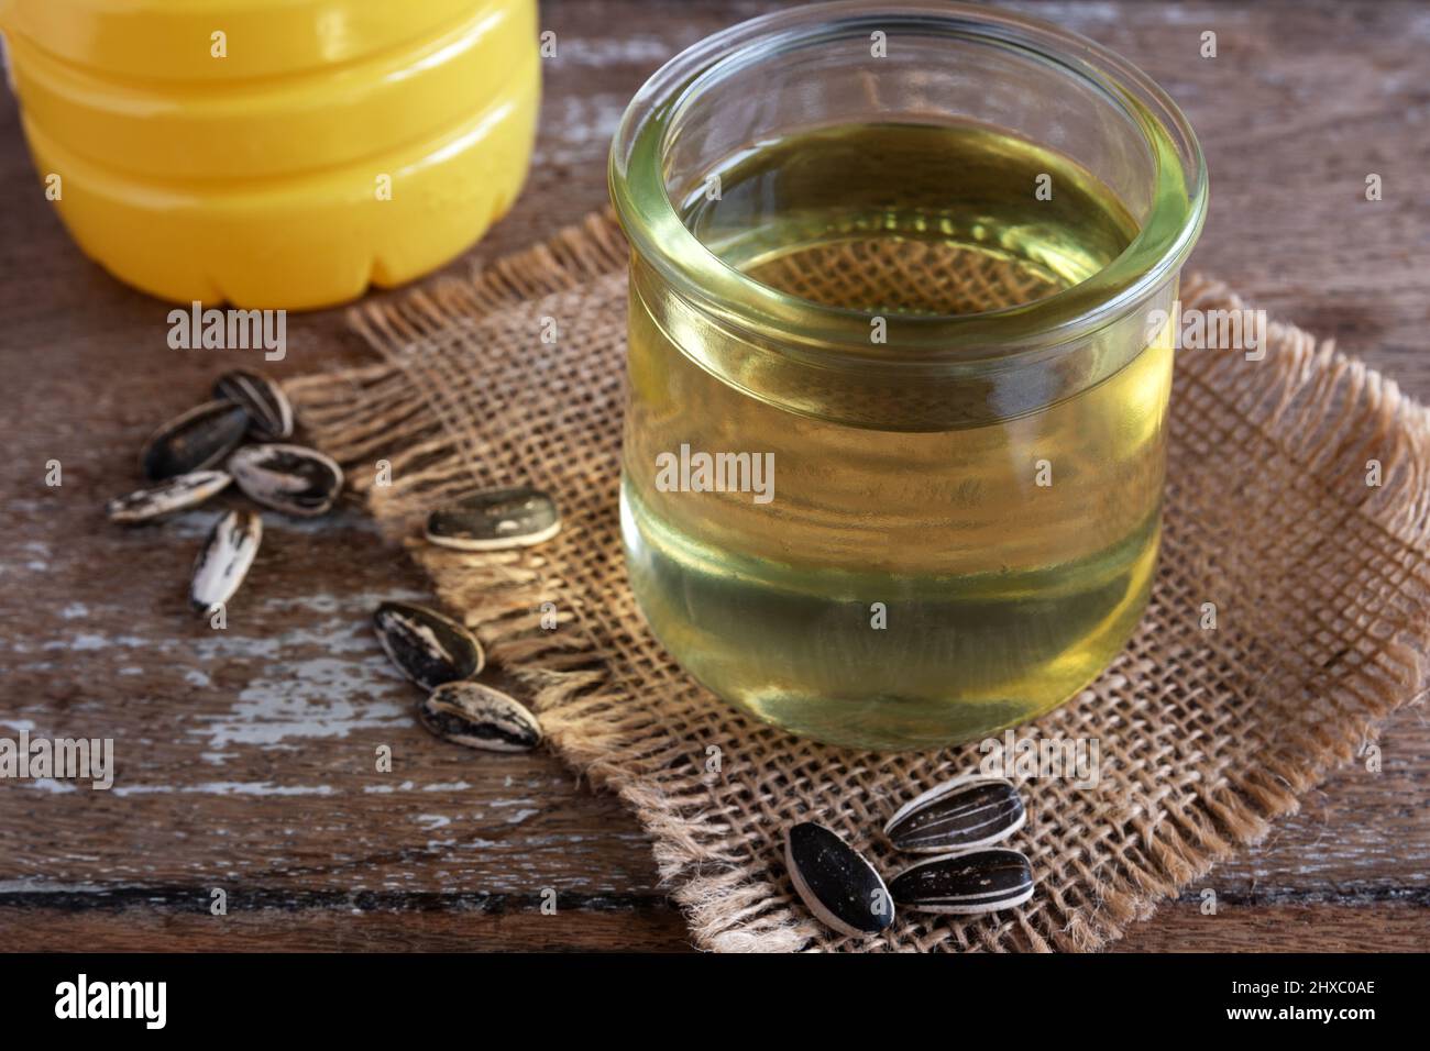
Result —
<instances>
[{"instance_id":1,"label":"group of three sunflower seeds on burlap in front of the jar","mask_svg":"<svg viewBox=\"0 0 1430 1051\"><path fill-rule=\"evenodd\" d=\"M965 775L909 799L884 825L894 849L932 855L887 885L868 858L812 821L785 831L785 864L809 911L841 934L878 934L894 922L895 902L915 912L997 912L1032 897L1028 858L994 847L1027 816L1011 781Z\"/></svg>"}]
</instances>

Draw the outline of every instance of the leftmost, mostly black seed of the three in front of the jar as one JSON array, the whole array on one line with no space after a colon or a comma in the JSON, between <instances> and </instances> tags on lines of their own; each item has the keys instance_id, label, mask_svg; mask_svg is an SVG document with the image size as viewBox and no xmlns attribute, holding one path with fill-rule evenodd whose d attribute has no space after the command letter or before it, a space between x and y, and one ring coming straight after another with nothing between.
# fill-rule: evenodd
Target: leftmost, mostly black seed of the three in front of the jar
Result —
<instances>
[{"instance_id":1,"label":"leftmost, mostly black seed of the three in front of the jar","mask_svg":"<svg viewBox=\"0 0 1430 1051\"><path fill-rule=\"evenodd\" d=\"M785 865L795 891L827 927L878 934L894 922L894 899L874 865L814 821L785 829Z\"/></svg>"}]
</instances>

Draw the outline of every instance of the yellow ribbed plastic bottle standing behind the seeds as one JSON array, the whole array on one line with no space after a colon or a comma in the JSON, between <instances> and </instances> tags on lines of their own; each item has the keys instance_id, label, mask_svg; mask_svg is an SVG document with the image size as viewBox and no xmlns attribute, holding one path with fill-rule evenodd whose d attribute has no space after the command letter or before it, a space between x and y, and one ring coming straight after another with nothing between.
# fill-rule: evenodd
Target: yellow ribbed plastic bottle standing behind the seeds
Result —
<instances>
[{"instance_id":1,"label":"yellow ribbed plastic bottle standing behind the seeds","mask_svg":"<svg viewBox=\"0 0 1430 1051\"><path fill-rule=\"evenodd\" d=\"M80 247L163 299L319 307L511 207L535 0L0 0L24 133Z\"/></svg>"}]
</instances>

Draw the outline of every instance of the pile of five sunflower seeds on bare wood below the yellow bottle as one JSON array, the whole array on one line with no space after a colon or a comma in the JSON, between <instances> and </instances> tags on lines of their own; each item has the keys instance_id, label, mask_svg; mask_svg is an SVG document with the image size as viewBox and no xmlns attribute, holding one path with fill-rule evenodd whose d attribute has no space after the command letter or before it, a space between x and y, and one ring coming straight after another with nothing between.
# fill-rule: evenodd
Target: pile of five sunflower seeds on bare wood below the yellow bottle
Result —
<instances>
[{"instance_id":1,"label":"pile of five sunflower seeds on bare wood below the yellow bottle","mask_svg":"<svg viewBox=\"0 0 1430 1051\"><path fill-rule=\"evenodd\" d=\"M285 515L312 518L333 506L343 472L293 436L293 408L277 383L253 372L226 372L212 400L159 428L139 453L153 485L109 502L112 522L136 526L197 508L236 483L249 499ZM220 515L199 549L189 602L207 612L226 603L253 565L263 519L252 510Z\"/></svg>"}]
</instances>

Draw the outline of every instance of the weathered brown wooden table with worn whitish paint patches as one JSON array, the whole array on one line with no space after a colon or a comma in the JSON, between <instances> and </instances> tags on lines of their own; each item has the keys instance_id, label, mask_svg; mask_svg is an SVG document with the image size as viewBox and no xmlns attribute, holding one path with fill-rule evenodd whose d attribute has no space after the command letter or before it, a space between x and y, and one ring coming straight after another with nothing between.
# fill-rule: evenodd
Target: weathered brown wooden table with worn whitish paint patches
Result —
<instances>
[{"instance_id":1,"label":"weathered brown wooden table with worn whitish paint patches","mask_svg":"<svg viewBox=\"0 0 1430 1051\"><path fill-rule=\"evenodd\" d=\"M558 34L525 196L478 252L605 200L613 124L668 56L755 3L552 3ZM1430 399L1430 10L1346 1L1025 3L1113 46L1185 107L1211 167L1194 267ZM1217 33L1218 56L1198 54ZM1384 200L1364 200L1367 173ZM113 736L114 791L0 782L0 945L70 949L688 945L649 845L549 755L472 755L416 726L368 626L420 576L356 509L270 519L249 613L196 623L206 518L122 531L156 422L245 352L170 350L167 306L86 260L0 99L0 735ZM453 269L465 267L465 262ZM289 319L282 375L363 360L340 312ZM247 363L247 359L245 359ZM44 483L60 460L63 486ZM375 772L393 749L396 776ZM1394 718L1384 769L1347 769L1300 815L1168 902L1127 949L1430 944L1430 728ZM555 915L538 905L559 891ZM212 915L212 891L227 914Z\"/></svg>"}]
</instances>

